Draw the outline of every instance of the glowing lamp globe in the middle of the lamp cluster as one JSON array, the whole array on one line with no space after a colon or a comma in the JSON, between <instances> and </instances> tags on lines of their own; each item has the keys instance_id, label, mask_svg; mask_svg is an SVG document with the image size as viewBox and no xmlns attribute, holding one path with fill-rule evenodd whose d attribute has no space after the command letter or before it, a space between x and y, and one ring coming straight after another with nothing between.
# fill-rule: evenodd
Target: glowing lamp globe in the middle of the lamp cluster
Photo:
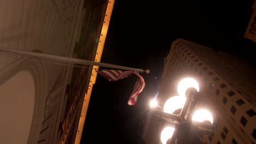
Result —
<instances>
[{"instance_id":1,"label":"glowing lamp globe in the middle of the lamp cluster","mask_svg":"<svg viewBox=\"0 0 256 144\"><path fill-rule=\"evenodd\" d=\"M186 101L185 97L179 97L179 96L171 97L165 102L164 112L173 113L178 109L182 109L185 104L185 101Z\"/></svg>"}]
</instances>

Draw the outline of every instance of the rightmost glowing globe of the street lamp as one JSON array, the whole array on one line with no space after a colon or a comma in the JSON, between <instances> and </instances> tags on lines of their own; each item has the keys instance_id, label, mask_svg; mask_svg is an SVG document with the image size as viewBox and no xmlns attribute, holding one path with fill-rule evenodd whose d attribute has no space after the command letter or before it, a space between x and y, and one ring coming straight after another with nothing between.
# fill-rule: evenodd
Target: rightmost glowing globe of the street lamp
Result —
<instances>
[{"instance_id":1,"label":"rightmost glowing globe of the street lamp","mask_svg":"<svg viewBox=\"0 0 256 144\"><path fill-rule=\"evenodd\" d=\"M211 123L213 123L213 117L211 112L205 109L195 111L192 120L197 122L210 121Z\"/></svg>"}]
</instances>

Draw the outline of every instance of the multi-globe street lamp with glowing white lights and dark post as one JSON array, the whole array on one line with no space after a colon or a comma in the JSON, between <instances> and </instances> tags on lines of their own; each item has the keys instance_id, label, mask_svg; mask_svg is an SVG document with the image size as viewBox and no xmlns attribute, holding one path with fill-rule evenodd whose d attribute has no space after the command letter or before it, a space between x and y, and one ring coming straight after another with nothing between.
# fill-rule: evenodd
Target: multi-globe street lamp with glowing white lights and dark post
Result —
<instances>
[{"instance_id":1,"label":"multi-globe street lamp with glowing white lights and dark post","mask_svg":"<svg viewBox=\"0 0 256 144\"><path fill-rule=\"evenodd\" d=\"M178 93L179 96L171 97L166 101L164 109L155 109L158 106L156 100L151 102L153 118L168 123L161 132L161 142L163 144L201 143L199 136L212 134L214 125L209 111L196 109L201 97L199 85L194 79L183 79L178 84Z\"/></svg>"}]
</instances>

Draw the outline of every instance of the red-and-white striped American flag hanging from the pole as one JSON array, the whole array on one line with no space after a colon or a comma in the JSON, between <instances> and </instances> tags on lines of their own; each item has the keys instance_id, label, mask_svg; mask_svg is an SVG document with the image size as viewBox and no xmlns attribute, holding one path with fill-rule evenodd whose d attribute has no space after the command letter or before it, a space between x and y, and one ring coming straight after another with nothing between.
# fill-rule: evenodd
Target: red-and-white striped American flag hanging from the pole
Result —
<instances>
[{"instance_id":1,"label":"red-and-white striped American flag hanging from the pole","mask_svg":"<svg viewBox=\"0 0 256 144\"><path fill-rule=\"evenodd\" d=\"M133 87L132 94L129 98L128 104L135 105L137 102L138 94L141 93L145 87L145 81L143 77L137 74L135 71L121 71L121 70L98 70L98 73L106 77L109 81L117 81L124 79L130 74L136 74L139 79L136 81L135 86Z\"/></svg>"}]
</instances>

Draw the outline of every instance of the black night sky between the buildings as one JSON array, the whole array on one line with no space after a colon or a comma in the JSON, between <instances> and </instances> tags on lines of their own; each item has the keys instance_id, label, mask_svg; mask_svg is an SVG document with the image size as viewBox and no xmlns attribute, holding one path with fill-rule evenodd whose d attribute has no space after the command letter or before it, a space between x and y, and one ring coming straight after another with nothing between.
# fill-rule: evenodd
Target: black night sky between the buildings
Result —
<instances>
[{"instance_id":1,"label":"black night sky between the buildings","mask_svg":"<svg viewBox=\"0 0 256 144\"><path fill-rule=\"evenodd\" d=\"M137 104L127 105L136 76L97 76L81 143L139 143L148 100L158 91L164 58L177 38L253 61L256 44L243 38L253 1L115 1L101 62L150 69Z\"/></svg>"}]
</instances>

